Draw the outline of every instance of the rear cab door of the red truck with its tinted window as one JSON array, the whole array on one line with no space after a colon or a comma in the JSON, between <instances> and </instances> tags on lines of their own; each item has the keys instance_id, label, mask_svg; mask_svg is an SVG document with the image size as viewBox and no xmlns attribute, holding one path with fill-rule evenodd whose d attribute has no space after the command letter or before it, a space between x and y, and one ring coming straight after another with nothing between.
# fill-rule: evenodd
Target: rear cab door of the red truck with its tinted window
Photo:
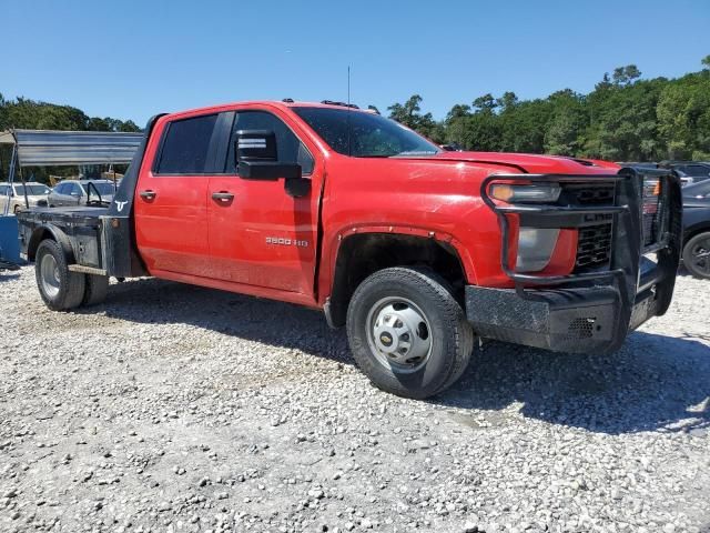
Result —
<instances>
[{"instance_id":1,"label":"rear cab door of the red truck with its tinted window","mask_svg":"<svg viewBox=\"0 0 710 533\"><path fill-rule=\"evenodd\" d=\"M217 113L156 128L135 189L135 234L152 274L211 276L206 194Z\"/></svg>"}]
</instances>

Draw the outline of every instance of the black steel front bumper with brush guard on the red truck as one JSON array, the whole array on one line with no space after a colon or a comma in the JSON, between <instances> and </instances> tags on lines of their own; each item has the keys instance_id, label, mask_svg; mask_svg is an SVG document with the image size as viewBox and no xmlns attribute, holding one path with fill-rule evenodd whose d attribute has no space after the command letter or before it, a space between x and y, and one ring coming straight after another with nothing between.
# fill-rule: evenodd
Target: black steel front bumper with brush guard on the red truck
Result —
<instances>
[{"instance_id":1,"label":"black steel front bumper with brush guard on the red truck","mask_svg":"<svg viewBox=\"0 0 710 533\"><path fill-rule=\"evenodd\" d=\"M658 219L653 242L643 235L643 180L658 179ZM496 204L494 182L612 183L615 200L602 205ZM500 266L515 289L466 286L466 314L476 333L554 351L609 353L629 331L663 314L670 305L681 243L681 195L676 175L656 169L621 169L617 174L493 174L480 194L497 215ZM590 221L611 222L609 264L568 275L536 275L510 269L509 215L526 228L575 229ZM648 225L648 224L647 224ZM645 257L656 254L656 261Z\"/></svg>"}]
</instances>

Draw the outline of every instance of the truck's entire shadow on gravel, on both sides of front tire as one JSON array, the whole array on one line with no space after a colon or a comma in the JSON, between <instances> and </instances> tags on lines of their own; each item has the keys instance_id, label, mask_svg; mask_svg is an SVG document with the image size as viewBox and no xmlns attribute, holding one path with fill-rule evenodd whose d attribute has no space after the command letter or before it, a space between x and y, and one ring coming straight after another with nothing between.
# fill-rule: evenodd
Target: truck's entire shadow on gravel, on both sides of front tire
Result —
<instances>
[{"instance_id":1,"label":"truck's entire shadow on gravel, on both sides of front tire","mask_svg":"<svg viewBox=\"0 0 710 533\"><path fill-rule=\"evenodd\" d=\"M321 312L287 303L146 279L112 285L105 304L81 312L95 311L133 322L187 323L354 364L343 330L331 330ZM483 411L494 425L505 425L515 404L515 415L591 432L706 432L709 341L636 332L612 355L486 342L462 380L429 402L463 410L464 419L466 410L476 411L468 413L471 424Z\"/></svg>"}]
</instances>

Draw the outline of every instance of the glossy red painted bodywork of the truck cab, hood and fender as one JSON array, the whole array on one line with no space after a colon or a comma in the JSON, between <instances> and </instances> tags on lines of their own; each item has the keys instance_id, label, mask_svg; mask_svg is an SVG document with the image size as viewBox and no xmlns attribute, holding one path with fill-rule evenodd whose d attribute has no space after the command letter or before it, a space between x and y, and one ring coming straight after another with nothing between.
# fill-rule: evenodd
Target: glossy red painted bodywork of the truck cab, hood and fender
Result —
<instances>
[{"instance_id":1,"label":"glossy red painted bodywork of the truck cab, hood and fender","mask_svg":"<svg viewBox=\"0 0 710 533\"><path fill-rule=\"evenodd\" d=\"M292 105L247 102L169 114L158 121L146 147L134 203L139 251L151 274L321 306L332 290L343 239L362 232L430 238L433 232L434 239L454 247L469 283L511 286L499 264L498 221L479 195L483 180L497 172L594 177L618 169L607 162L586 165L567 158L519 153L348 158L332 151L290 109ZM290 197L283 180L153 174L153 160L170 121L230 110L267 110L291 127L315 158L310 195ZM140 195L149 190L155 193L153 200ZM213 192L230 192L234 199L219 202L212 199ZM517 220L510 219L517 231ZM267 238L306 244L272 244ZM542 273L569 273L576 247L577 232L562 230Z\"/></svg>"}]
</instances>

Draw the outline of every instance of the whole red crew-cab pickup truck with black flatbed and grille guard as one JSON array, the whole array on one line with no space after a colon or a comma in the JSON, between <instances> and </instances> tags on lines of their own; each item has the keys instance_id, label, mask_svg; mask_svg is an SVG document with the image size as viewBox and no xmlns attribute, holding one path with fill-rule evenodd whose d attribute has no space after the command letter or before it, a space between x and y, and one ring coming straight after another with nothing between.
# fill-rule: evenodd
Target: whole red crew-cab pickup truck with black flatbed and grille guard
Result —
<instances>
[{"instance_id":1,"label":"whole red crew-cab pickup truck with black flatbed and grille guard","mask_svg":"<svg viewBox=\"0 0 710 533\"><path fill-rule=\"evenodd\" d=\"M113 200L19 214L47 305L153 275L321 309L372 382L452 385L477 338L611 352L662 314L679 261L670 171L446 152L337 102L150 120Z\"/></svg>"}]
</instances>

